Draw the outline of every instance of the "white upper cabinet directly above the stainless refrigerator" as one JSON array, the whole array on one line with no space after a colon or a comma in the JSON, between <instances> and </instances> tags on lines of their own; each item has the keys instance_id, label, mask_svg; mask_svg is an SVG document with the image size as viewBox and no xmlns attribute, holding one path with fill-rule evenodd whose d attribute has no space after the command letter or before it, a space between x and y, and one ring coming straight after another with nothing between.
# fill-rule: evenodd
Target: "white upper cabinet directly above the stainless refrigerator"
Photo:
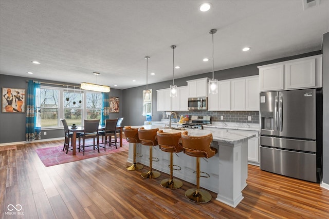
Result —
<instances>
[{"instance_id":1,"label":"white upper cabinet directly above the stainless refrigerator","mask_svg":"<svg viewBox=\"0 0 329 219\"><path fill-rule=\"evenodd\" d=\"M322 87L322 55L259 66L260 91Z\"/></svg>"}]
</instances>

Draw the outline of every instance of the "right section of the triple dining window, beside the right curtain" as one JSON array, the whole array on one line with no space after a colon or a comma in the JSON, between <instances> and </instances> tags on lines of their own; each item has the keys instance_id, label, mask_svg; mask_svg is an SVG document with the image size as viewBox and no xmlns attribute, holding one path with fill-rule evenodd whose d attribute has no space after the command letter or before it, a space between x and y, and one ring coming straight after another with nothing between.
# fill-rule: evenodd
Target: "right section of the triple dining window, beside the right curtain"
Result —
<instances>
[{"instance_id":1,"label":"right section of the triple dining window, beside the right curtain","mask_svg":"<svg viewBox=\"0 0 329 219\"><path fill-rule=\"evenodd\" d=\"M87 120L101 118L102 111L102 94L87 92Z\"/></svg>"}]
</instances>

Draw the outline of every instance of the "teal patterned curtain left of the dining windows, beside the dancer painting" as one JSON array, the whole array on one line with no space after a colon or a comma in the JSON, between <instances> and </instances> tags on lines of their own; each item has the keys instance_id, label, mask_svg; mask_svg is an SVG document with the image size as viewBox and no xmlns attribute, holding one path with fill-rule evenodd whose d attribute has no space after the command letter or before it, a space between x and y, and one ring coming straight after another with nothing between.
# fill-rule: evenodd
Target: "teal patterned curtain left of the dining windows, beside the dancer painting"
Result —
<instances>
[{"instance_id":1,"label":"teal patterned curtain left of the dining windows, beside the dancer painting","mask_svg":"<svg viewBox=\"0 0 329 219\"><path fill-rule=\"evenodd\" d=\"M26 131L25 141L34 141L41 139L41 127L38 127L36 121L36 92L40 91L40 82L28 81L26 97Z\"/></svg>"}]
</instances>

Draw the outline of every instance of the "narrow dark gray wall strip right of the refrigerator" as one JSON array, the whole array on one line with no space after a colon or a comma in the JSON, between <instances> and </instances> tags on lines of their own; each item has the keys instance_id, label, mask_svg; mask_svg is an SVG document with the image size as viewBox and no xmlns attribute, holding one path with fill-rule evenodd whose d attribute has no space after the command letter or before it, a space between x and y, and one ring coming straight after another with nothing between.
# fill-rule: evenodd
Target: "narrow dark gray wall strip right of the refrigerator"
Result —
<instances>
[{"instance_id":1,"label":"narrow dark gray wall strip right of the refrigerator","mask_svg":"<svg viewBox=\"0 0 329 219\"><path fill-rule=\"evenodd\" d=\"M329 32L323 35L322 43L323 73L323 178L329 185Z\"/></svg>"}]
</instances>

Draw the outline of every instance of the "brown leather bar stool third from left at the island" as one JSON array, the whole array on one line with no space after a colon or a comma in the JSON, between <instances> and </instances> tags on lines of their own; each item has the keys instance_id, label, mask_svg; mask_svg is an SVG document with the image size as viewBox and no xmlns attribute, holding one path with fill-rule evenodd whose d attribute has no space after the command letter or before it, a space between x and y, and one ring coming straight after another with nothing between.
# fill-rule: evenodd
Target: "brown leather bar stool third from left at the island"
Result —
<instances>
[{"instance_id":1,"label":"brown leather bar stool third from left at the island","mask_svg":"<svg viewBox=\"0 0 329 219\"><path fill-rule=\"evenodd\" d=\"M176 133L166 133L162 130L157 131L157 140L159 147L162 151L170 153L170 178L166 178L165 180L161 181L161 186L168 188L168 189L178 189L182 187L183 183L180 180L173 178L173 170L174 170L174 153L179 153L183 151L183 147L179 145L180 140L180 132ZM180 170L175 169L175 170Z\"/></svg>"}]
</instances>

